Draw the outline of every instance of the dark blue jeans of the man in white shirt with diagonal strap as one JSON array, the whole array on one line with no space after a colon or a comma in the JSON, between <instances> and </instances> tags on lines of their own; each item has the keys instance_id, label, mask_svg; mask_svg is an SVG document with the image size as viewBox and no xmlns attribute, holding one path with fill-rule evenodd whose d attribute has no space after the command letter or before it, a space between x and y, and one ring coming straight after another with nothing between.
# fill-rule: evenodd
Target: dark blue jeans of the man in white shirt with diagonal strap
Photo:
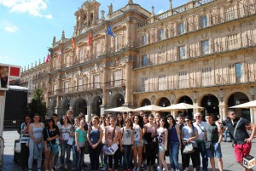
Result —
<instances>
[{"instance_id":1,"label":"dark blue jeans of the man in white shirt with diagonal strap","mask_svg":"<svg viewBox=\"0 0 256 171\"><path fill-rule=\"evenodd\" d=\"M208 168L208 157L207 157L207 149L206 149L206 143L203 140L196 140L198 152L196 153L196 168L200 169L201 162L202 162L202 168L207 169ZM200 159L200 153L201 153L201 159Z\"/></svg>"}]
</instances>

